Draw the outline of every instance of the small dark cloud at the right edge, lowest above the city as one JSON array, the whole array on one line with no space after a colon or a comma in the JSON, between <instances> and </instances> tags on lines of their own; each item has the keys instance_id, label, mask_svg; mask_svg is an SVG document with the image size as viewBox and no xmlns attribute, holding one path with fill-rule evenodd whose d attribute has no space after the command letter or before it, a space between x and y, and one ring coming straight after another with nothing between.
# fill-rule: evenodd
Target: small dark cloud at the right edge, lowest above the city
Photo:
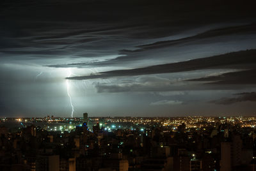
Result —
<instances>
[{"instance_id":1,"label":"small dark cloud at the right edge, lowest above the city","mask_svg":"<svg viewBox=\"0 0 256 171\"><path fill-rule=\"evenodd\" d=\"M234 94L237 97L234 98L221 98L219 100L212 100L210 103L215 103L218 105L231 105L233 103L243 102L243 101L256 101L256 93L237 93Z\"/></svg>"}]
</instances>

